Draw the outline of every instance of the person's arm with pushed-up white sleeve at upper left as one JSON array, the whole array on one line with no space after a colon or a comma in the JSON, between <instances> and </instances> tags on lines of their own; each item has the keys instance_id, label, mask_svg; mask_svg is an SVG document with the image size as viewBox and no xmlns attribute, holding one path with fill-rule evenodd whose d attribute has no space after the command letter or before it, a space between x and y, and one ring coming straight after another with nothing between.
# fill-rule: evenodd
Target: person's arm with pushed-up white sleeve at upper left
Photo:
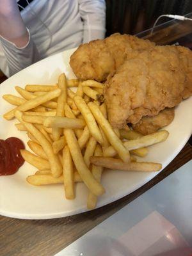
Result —
<instances>
[{"instance_id":1,"label":"person's arm with pushed-up white sleeve at upper left","mask_svg":"<svg viewBox=\"0 0 192 256\"><path fill-rule=\"evenodd\" d=\"M0 0L0 42L8 63L9 76L40 59L16 0Z\"/></svg>"}]
</instances>

